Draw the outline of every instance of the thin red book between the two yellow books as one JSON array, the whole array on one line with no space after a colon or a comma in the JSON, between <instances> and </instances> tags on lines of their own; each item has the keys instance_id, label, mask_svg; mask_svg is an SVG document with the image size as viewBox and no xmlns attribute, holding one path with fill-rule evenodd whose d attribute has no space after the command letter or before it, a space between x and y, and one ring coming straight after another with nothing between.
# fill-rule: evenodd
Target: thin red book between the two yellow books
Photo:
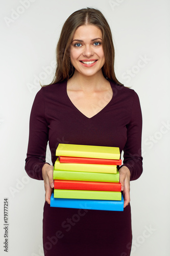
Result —
<instances>
[{"instance_id":1,"label":"thin red book between the two yellow books","mask_svg":"<svg viewBox=\"0 0 170 256\"><path fill-rule=\"evenodd\" d=\"M88 164L113 164L121 165L122 160L101 159L101 158L85 158L85 157L59 157L60 163L88 163Z\"/></svg>"}]
</instances>

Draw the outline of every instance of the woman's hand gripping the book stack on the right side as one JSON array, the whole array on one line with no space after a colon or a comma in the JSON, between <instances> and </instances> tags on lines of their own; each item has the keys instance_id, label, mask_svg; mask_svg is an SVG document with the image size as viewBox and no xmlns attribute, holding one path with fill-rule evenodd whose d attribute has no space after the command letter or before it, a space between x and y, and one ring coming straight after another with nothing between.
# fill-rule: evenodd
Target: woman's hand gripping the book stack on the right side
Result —
<instances>
[{"instance_id":1,"label":"woman's hand gripping the book stack on the right side","mask_svg":"<svg viewBox=\"0 0 170 256\"><path fill-rule=\"evenodd\" d=\"M130 170L126 166L122 166L119 170L119 182L122 184L124 195L124 208L130 203Z\"/></svg>"}]
</instances>

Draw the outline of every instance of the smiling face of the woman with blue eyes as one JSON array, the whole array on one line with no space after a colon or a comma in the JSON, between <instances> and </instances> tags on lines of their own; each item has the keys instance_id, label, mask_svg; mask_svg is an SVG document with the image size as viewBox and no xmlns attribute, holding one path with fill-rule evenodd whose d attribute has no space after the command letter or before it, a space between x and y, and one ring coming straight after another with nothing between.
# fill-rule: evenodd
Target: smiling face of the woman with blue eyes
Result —
<instances>
[{"instance_id":1,"label":"smiling face of the woman with blue eyes","mask_svg":"<svg viewBox=\"0 0 170 256\"><path fill-rule=\"evenodd\" d=\"M75 72L93 76L102 72L105 56L102 45L102 31L93 25L80 26L72 38L70 60Z\"/></svg>"}]
</instances>

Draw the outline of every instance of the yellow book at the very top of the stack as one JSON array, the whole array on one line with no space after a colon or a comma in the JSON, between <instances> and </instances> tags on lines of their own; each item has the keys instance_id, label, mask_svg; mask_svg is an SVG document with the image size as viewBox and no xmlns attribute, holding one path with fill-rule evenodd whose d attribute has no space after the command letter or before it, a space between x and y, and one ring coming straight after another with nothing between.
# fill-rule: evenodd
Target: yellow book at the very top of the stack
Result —
<instances>
[{"instance_id":1,"label":"yellow book at the very top of the stack","mask_svg":"<svg viewBox=\"0 0 170 256\"><path fill-rule=\"evenodd\" d=\"M59 143L56 156L120 159L118 147Z\"/></svg>"}]
</instances>

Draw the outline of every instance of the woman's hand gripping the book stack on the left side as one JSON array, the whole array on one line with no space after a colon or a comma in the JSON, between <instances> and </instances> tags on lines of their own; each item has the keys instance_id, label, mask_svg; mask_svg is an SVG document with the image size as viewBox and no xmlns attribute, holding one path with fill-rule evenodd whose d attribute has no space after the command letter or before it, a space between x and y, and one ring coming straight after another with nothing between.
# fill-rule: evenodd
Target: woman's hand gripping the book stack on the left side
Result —
<instances>
[{"instance_id":1,"label":"woman's hand gripping the book stack on the left side","mask_svg":"<svg viewBox=\"0 0 170 256\"><path fill-rule=\"evenodd\" d=\"M54 188L53 169L54 167L47 163L45 163L42 167L42 177L44 180L44 188L45 188L45 201L48 204L50 204L50 198Z\"/></svg>"}]
</instances>

